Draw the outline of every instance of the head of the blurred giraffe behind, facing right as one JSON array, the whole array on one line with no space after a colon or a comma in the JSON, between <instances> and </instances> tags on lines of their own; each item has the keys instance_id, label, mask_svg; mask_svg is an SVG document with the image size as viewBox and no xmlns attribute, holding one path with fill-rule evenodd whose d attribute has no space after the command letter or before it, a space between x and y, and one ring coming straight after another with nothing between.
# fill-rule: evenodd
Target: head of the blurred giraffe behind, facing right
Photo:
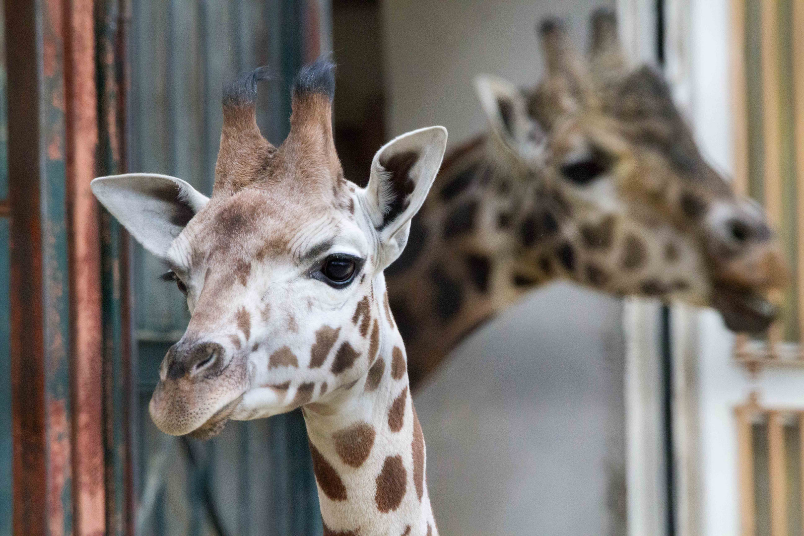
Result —
<instances>
[{"instance_id":1,"label":"head of the blurred giraffe behind, facing right","mask_svg":"<svg viewBox=\"0 0 804 536\"><path fill-rule=\"evenodd\" d=\"M591 26L584 59L560 23L541 24L534 90L477 80L498 165L536 192L515 200L517 271L712 305L732 330L765 329L765 293L787 276L764 211L704 161L662 76L626 70L613 13Z\"/></svg>"}]
</instances>

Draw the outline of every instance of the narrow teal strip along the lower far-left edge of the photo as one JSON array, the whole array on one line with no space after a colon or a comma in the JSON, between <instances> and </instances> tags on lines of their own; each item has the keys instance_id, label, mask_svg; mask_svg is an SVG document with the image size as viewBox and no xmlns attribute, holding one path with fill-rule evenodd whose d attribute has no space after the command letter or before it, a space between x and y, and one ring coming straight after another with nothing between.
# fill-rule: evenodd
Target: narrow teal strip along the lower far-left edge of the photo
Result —
<instances>
[{"instance_id":1,"label":"narrow teal strip along the lower far-left edge of the photo","mask_svg":"<svg viewBox=\"0 0 804 536\"><path fill-rule=\"evenodd\" d=\"M9 221L0 218L0 536L11 536L11 331Z\"/></svg>"}]
</instances>

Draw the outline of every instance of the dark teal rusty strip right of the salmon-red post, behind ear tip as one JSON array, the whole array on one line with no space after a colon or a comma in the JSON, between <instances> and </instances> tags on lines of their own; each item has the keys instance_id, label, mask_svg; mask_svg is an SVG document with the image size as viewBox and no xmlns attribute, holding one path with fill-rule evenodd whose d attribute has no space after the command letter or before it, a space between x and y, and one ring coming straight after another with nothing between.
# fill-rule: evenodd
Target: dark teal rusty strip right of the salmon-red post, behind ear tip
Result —
<instances>
[{"instance_id":1,"label":"dark teal rusty strip right of the salmon-red post, behind ear tip","mask_svg":"<svg viewBox=\"0 0 804 536\"><path fill-rule=\"evenodd\" d=\"M96 84L98 95L99 143L97 167L100 174L117 174L122 169L121 116L118 97L121 76L117 58L119 0L96 2ZM105 399L106 534L122 536L129 523L126 464L131 449L126 444L128 423L129 371L125 366L123 325L125 268L123 229L103 208L100 209L101 307L103 312L103 377Z\"/></svg>"}]
</instances>

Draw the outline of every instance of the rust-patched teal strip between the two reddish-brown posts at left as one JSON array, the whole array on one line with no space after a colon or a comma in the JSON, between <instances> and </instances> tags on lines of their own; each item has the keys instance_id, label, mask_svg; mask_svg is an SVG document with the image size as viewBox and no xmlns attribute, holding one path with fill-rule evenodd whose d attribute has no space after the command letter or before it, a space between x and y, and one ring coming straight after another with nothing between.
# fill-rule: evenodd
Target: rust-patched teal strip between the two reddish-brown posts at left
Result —
<instances>
[{"instance_id":1,"label":"rust-patched teal strip between the two reddish-brown posts at left","mask_svg":"<svg viewBox=\"0 0 804 536\"><path fill-rule=\"evenodd\" d=\"M47 67L40 71L39 116L43 130L39 151L43 162L39 176L40 225L42 232L43 337L45 342L44 387L47 414L49 483L57 488L59 505L50 504L50 522L59 523L62 534L72 534L72 468L70 411L70 301L68 231L64 140L64 41L61 18L39 4L41 39L51 51ZM45 62L45 58L41 61ZM51 63L52 62L52 63ZM61 474L59 474L61 473ZM61 489L58 489L58 488Z\"/></svg>"}]
</instances>

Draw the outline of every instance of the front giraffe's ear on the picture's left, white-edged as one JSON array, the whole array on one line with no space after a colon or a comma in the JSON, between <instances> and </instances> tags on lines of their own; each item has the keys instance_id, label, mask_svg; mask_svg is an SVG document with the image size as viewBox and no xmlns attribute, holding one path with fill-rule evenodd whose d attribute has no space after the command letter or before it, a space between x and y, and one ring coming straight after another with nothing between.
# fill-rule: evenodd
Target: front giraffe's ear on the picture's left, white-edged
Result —
<instances>
[{"instance_id":1,"label":"front giraffe's ear on the picture's left, white-edged","mask_svg":"<svg viewBox=\"0 0 804 536\"><path fill-rule=\"evenodd\" d=\"M149 252L165 258L170 244L209 199L180 178L130 173L92 181L92 193Z\"/></svg>"}]
</instances>

